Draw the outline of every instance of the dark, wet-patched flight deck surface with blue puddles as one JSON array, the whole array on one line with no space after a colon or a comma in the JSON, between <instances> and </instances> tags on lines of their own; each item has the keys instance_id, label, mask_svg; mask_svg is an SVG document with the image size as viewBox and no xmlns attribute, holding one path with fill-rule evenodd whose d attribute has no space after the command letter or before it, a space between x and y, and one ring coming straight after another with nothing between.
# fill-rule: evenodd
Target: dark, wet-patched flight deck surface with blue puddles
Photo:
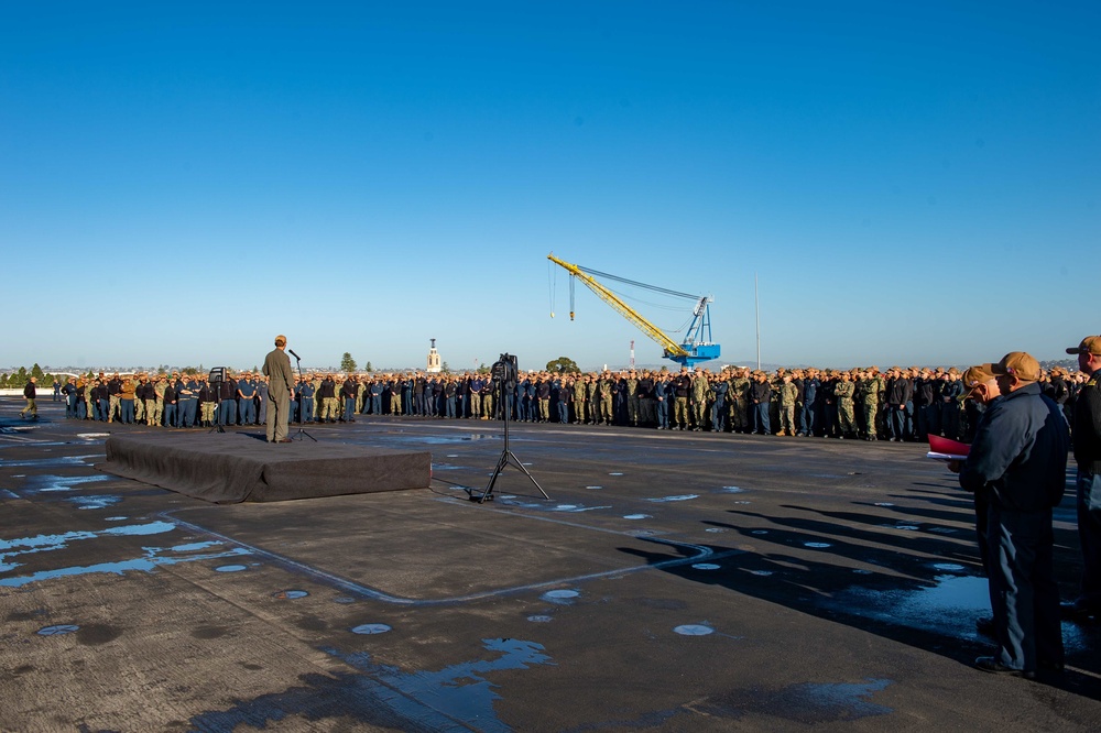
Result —
<instances>
[{"instance_id":1,"label":"dark, wet-patched flight deck surface with blue puddles","mask_svg":"<svg viewBox=\"0 0 1101 733\"><path fill-rule=\"evenodd\" d=\"M1069 668L983 674L972 508L919 445L361 418L430 490L209 505L0 400L2 731L1097 730ZM141 430L148 428L129 428ZM258 429L259 430L259 429ZM271 446L279 450L280 446ZM1068 494L1058 572L1080 562Z\"/></svg>"}]
</instances>

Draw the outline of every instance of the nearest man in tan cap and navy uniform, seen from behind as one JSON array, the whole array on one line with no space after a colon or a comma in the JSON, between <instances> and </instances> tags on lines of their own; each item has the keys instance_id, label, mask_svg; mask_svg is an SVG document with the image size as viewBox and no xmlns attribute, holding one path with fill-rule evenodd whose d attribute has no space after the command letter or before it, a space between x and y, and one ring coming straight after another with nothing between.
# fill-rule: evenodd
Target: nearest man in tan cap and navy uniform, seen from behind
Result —
<instances>
[{"instance_id":1,"label":"nearest man in tan cap and navy uniform, seen from behind","mask_svg":"<svg viewBox=\"0 0 1101 733\"><path fill-rule=\"evenodd\" d=\"M960 486L989 492L990 595L998 652L982 671L1034 678L1061 671L1059 588L1053 568L1051 507L1066 484L1067 422L1040 392L1039 362L1013 351L991 368L1002 398L979 424Z\"/></svg>"}]
</instances>

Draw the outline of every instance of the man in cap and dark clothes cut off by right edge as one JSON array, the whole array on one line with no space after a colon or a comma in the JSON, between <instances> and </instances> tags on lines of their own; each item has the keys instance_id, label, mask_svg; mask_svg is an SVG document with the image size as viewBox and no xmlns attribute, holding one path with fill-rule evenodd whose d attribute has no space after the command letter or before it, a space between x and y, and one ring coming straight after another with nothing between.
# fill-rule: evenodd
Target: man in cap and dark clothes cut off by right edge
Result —
<instances>
[{"instance_id":1,"label":"man in cap and dark clothes cut off by right edge","mask_svg":"<svg viewBox=\"0 0 1101 733\"><path fill-rule=\"evenodd\" d=\"M1078 541L1082 550L1082 584L1076 600L1067 603L1068 615L1101 614L1101 336L1082 339L1078 368L1089 375L1075 398L1075 463L1078 464Z\"/></svg>"}]
</instances>

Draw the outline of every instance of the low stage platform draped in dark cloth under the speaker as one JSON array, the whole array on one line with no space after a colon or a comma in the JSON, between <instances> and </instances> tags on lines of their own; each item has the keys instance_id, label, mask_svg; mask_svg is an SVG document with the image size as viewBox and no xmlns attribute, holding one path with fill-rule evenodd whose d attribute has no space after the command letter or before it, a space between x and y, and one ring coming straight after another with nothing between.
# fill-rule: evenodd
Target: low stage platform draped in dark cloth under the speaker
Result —
<instances>
[{"instance_id":1,"label":"low stage platform draped in dark cloth under the speaker","mask_svg":"<svg viewBox=\"0 0 1101 733\"><path fill-rule=\"evenodd\" d=\"M243 434L107 439L101 471L217 504L425 489L432 453L326 442L272 445Z\"/></svg>"}]
</instances>

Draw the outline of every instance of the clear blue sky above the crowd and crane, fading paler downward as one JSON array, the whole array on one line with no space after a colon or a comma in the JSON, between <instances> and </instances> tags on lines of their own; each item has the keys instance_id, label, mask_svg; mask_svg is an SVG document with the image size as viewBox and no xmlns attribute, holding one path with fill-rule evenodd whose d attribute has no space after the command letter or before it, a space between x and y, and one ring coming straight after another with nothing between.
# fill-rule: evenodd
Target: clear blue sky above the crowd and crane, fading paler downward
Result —
<instances>
[{"instance_id":1,"label":"clear blue sky above the crowd and crane, fading paler downward","mask_svg":"<svg viewBox=\"0 0 1101 733\"><path fill-rule=\"evenodd\" d=\"M6 3L0 366L723 362L1101 332L1101 3ZM550 285L555 284L555 318ZM630 294L630 293L629 293ZM633 300L659 327L685 317Z\"/></svg>"}]
</instances>

